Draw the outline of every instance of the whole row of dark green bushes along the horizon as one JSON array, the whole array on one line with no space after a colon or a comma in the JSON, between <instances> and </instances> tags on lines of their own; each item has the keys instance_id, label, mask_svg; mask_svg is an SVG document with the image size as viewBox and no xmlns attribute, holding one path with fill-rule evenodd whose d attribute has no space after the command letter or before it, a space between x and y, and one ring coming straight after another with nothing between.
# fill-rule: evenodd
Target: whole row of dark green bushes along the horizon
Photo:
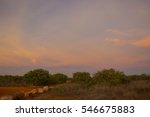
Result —
<instances>
[{"instance_id":1,"label":"whole row of dark green bushes along the horizon","mask_svg":"<svg viewBox=\"0 0 150 117\"><path fill-rule=\"evenodd\" d=\"M127 84L132 80L150 80L150 75L125 75L124 72L110 68L97 71L93 76L88 72L75 72L72 78L69 78L63 73L50 74L48 70L35 69L23 76L1 75L0 86L43 86L66 83L67 81L87 86L95 84L117 85Z\"/></svg>"}]
</instances>

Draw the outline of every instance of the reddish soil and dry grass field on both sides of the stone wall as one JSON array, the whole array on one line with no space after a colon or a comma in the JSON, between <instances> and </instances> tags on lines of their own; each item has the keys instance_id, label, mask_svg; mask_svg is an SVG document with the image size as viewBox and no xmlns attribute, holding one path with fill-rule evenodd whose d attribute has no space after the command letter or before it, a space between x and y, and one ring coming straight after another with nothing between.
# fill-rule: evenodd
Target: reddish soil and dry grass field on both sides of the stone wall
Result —
<instances>
[{"instance_id":1,"label":"reddish soil and dry grass field on both sides of the stone wall","mask_svg":"<svg viewBox=\"0 0 150 117\"><path fill-rule=\"evenodd\" d=\"M28 92L41 86L10 86L0 87L0 97ZM150 80L138 79L125 84L112 85L101 83L87 85L86 83L63 83L50 85L48 91L29 97L17 99L28 100L146 100L150 99Z\"/></svg>"}]
</instances>

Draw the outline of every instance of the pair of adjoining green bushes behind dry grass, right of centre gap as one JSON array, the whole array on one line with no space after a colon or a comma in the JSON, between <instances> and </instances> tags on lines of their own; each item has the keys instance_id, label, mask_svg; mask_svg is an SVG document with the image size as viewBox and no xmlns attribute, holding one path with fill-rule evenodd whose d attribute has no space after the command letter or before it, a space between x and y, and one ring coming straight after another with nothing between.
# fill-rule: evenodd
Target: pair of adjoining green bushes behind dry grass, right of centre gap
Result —
<instances>
[{"instance_id":1,"label":"pair of adjoining green bushes behind dry grass, right of centre gap","mask_svg":"<svg viewBox=\"0 0 150 117\"><path fill-rule=\"evenodd\" d=\"M120 71L114 69L104 69L96 72L93 77L88 72L76 72L73 74L73 82L92 86L96 84L118 85L129 83L128 77Z\"/></svg>"}]
</instances>

